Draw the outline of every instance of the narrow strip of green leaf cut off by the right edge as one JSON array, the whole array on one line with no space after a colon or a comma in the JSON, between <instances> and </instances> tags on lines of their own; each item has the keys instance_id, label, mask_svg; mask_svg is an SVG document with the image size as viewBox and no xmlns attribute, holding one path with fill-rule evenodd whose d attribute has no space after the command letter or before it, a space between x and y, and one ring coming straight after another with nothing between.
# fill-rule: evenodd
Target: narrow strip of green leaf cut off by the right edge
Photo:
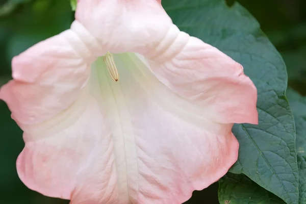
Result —
<instances>
[{"instance_id":1,"label":"narrow strip of green leaf cut off by the right edge","mask_svg":"<svg viewBox=\"0 0 306 204\"><path fill-rule=\"evenodd\" d=\"M306 203L306 97L288 89L287 97L292 107L296 126L296 150L299 170L299 203Z\"/></svg>"}]
</instances>

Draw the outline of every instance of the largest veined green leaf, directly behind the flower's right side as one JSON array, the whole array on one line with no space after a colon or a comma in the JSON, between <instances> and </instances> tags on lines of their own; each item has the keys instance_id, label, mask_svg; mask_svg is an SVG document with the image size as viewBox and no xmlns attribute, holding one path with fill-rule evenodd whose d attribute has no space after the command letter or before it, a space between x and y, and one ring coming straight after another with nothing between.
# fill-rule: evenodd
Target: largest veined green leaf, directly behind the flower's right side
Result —
<instances>
[{"instance_id":1,"label":"largest veined green leaf, directly behind the flower's right side","mask_svg":"<svg viewBox=\"0 0 306 204\"><path fill-rule=\"evenodd\" d=\"M285 97L287 72L282 57L239 4L223 0L164 0L173 22L244 66L258 89L259 125L237 124L239 159L230 170L284 199L298 203L294 119Z\"/></svg>"}]
</instances>

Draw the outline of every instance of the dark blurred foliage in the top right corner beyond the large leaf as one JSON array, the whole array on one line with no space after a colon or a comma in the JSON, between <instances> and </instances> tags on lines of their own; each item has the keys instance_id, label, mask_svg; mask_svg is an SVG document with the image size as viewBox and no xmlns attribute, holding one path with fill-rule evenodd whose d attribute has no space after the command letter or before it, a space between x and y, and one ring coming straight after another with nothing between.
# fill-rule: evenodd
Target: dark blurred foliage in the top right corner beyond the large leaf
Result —
<instances>
[{"instance_id":1,"label":"dark blurred foliage in the top right corner beyond the large leaf","mask_svg":"<svg viewBox=\"0 0 306 204\"><path fill-rule=\"evenodd\" d=\"M306 1L240 0L282 54L289 86L306 95Z\"/></svg>"}]
</instances>

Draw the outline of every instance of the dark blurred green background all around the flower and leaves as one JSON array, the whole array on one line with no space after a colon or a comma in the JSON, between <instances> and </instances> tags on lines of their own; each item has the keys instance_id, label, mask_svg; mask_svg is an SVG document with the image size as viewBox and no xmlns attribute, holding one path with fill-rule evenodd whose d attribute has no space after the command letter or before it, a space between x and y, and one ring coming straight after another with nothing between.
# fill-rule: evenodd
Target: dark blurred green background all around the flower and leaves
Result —
<instances>
[{"instance_id":1,"label":"dark blurred green background all around the flower and leaves","mask_svg":"<svg viewBox=\"0 0 306 204\"><path fill-rule=\"evenodd\" d=\"M167 0L164 0L167 1ZM192 1L192 0L190 0ZM227 1L229 5L233 1ZM240 0L258 19L263 31L282 54L289 86L306 95L306 1ZM0 85L10 79L10 61L31 45L69 28L73 20L68 0L0 0ZM15 161L23 148L21 131L0 101L0 203L60 204L29 190L18 179ZM186 203L219 203L218 184L195 192Z\"/></svg>"}]
</instances>

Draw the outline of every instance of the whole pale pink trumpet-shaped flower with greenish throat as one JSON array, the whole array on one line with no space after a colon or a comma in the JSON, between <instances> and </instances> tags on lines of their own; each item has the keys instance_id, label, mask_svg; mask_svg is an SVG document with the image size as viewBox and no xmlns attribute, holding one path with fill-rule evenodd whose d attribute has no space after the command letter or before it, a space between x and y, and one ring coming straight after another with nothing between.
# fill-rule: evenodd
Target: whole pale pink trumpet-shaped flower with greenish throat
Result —
<instances>
[{"instance_id":1,"label":"whole pale pink trumpet-shaped flower with greenish throat","mask_svg":"<svg viewBox=\"0 0 306 204\"><path fill-rule=\"evenodd\" d=\"M182 203L237 160L233 123L258 122L242 66L157 0L80 0L12 75L0 97L23 130L18 175L71 204Z\"/></svg>"}]
</instances>

